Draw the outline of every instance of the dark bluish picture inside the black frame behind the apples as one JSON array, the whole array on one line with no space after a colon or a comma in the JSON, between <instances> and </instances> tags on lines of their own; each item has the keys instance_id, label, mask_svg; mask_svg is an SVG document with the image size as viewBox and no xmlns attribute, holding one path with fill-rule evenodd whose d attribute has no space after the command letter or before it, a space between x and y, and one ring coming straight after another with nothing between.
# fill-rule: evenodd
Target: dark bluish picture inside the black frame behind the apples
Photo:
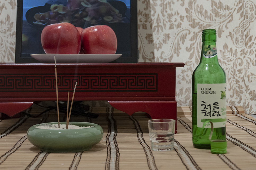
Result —
<instances>
[{"instance_id":1,"label":"dark bluish picture inside the black frame behind the apples","mask_svg":"<svg viewBox=\"0 0 256 170\"><path fill-rule=\"evenodd\" d=\"M76 27L108 25L117 37L116 54L131 57L130 0L23 0L21 58L44 54L46 25L69 22Z\"/></svg>"}]
</instances>

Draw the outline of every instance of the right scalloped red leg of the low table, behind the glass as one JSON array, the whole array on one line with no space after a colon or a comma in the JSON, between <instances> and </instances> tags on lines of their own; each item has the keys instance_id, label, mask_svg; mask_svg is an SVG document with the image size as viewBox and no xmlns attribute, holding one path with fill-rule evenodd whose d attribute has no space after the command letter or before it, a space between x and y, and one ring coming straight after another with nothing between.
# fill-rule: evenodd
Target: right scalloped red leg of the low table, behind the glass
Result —
<instances>
[{"instance_id":1,"label":"right scalloped red leg of the low table, behind the glass","mask_svg":"<svg viewBox=\"0 0 256 170\"><path fill-rule=\"evenodd\" d=\"M177 133L176 101L109 101L114 108L132 115L135 112L146 112L152 119L174 119Z\"/></svg>"}]
</instances>

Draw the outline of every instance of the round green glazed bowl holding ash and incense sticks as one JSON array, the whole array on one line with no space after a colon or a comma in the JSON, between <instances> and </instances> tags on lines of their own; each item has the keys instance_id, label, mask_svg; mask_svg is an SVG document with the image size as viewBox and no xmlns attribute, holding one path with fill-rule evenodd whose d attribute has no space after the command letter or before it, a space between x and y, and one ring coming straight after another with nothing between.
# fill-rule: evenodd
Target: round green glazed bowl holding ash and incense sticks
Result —
<instances>
[{"instance_id":1,"label":"round green glazed bowl holding ash and incense sticks","mask_svg":"<svg viewBox=\"0 0 256 170\"><path fill-rule=\"evenodd\" d=\"M93 126L84 129L39 129L43 124L57 124L58 122L33 125L28 129L29 142L45 152L80 152L91 149L103 137L101 126L88 122L70 122L69 125ZM66 124L66 122L60 122Z\"/></svg>"}]
</instances>

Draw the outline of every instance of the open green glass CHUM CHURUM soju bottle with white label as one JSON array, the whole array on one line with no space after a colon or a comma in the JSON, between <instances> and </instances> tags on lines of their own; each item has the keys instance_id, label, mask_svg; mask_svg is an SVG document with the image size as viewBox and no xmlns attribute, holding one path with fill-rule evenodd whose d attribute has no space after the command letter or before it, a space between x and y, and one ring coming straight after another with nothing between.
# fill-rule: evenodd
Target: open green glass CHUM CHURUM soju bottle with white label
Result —
<instances>
[{"instance_id":1,"label":"open green glass CHUM CHURUM soju bottle with white label","mask_svg":"<svg viewBox=\"0 0 256 170\"><path fill-rule=\"evenodd\" d=\"M216 30L202 32L200 63L192 75L192 141L195 148L210 149L210 123L213 122L211 140L226 140L226 75L218 62Z\"/></svg>"}]
</instances>

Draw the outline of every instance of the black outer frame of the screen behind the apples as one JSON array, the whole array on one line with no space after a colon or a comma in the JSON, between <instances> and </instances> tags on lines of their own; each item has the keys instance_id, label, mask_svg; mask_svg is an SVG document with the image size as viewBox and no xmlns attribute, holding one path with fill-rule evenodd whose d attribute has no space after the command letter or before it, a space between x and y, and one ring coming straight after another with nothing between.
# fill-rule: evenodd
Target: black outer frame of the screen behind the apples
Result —
<instances>
[{"instance_id":1,"label":"black outer frame of the screen behind the apples","mask_svg":"<svg viewBox=\"0 0 256 170\"><path fill-rule=\"evenodd\" d=\"M22 43L22 16L23 0L17 1L17 20L16 20L16 48L15 63L41 63L34 58L21 58ZM131 57L118 58L112 63L137 63L138 52L138 25L137 25L137 0L131 0Z\"/></svg>"}]
</instances>

